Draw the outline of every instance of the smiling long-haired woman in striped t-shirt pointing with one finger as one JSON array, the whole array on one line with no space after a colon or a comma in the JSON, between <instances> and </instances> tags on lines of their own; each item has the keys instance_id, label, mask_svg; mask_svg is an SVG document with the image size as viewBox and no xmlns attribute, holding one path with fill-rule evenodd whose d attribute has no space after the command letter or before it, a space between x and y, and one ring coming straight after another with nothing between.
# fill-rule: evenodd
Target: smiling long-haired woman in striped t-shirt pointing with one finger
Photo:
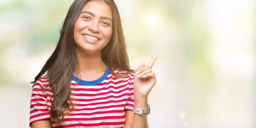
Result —
<instances>
[{"instance_id":1,"label":"smiling long-haired woman in striped t-shirt pointing with one finger","mask_svg":"<svg viewBox=\"0 0 256 128\"><path fill-rule=\"evenodd\" d=\"M54 52L35 77L31 128L146 128L151 67L129 68L113 0L75 0ZM134 111L133 111L134 110Z\"/></svg>"}]
</instances>

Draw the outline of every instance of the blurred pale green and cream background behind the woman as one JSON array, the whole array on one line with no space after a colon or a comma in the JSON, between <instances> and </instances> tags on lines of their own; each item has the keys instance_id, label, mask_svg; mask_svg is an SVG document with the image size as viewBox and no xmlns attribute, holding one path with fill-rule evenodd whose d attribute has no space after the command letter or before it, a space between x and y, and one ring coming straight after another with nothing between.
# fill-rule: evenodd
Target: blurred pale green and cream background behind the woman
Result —
<instances>
[{"instance_id":1,"label":"blurred pale green and cream background behind the woman","mask_svg":"<svg viewBox=\"0 0 256 128\"><path fill-rule=\"evenodd\" d=\"M150 128L256 128L255 0L114 0L131 67L159 53ZM0 128L29 128L35 75L73 0L0 0Z\"/></svg>"}]
</instances>

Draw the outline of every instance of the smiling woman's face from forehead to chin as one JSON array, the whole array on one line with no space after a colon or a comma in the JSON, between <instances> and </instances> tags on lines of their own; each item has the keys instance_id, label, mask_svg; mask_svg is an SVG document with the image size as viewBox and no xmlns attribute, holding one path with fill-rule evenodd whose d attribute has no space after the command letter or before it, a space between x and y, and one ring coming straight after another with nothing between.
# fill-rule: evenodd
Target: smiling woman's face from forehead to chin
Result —
<instances>
[{"instance_id":1,"label":"smiling woman's face from forehead to chin","mask_svg":"<svg viewBox=\"0 0 256 128\"><path fill-rule=\"evenodd\" d=\"M112 12L101 0L88 1L76 21L74 39L77 52L100 53L112 34Z\"/></svg>"}]
</instances>

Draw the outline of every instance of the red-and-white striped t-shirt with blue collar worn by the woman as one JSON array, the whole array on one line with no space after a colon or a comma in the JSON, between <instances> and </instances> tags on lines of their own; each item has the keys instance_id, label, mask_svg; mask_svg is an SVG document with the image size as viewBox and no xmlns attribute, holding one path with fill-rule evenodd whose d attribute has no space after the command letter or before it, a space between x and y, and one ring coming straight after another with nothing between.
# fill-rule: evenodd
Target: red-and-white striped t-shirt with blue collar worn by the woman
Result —
<instances>
[{"instance_id":1,"label":"red-and-white striped t-shirt with blue collar worn by the woman","mask_svg":"<svg viewBox=\"0 0 256 128\"><path fill-rule=\"evenodd\" d=\"M73 75L70 95L74 111L64 117L66 125L52 121L53 128L123 128L125 110L132 110L134 106L133 82L133 73L125 78L115 78L108 67L104 75L95 81L83 81ZM51 118L49 110L53 93L50 88L43 89L47 83L49 81L44 77L33 86L29 125Z\"/></svg>"}]
</instances>

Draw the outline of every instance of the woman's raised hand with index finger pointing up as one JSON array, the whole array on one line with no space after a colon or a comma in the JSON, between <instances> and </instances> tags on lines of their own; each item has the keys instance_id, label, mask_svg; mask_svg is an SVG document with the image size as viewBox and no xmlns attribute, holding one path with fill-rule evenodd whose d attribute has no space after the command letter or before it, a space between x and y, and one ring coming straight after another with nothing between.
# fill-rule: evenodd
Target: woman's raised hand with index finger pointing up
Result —
<instances>
[{"instance_id":1,"label":"woman's raised hand with index finger pointing up","mask_svg":"<svg viewBox=\"0 0 256 128\"><path fill-rule=\"evenodd\" d=\"M156 84L156 77L151 68L157 60L158 55L145 66L143 62L136 70L134 75L134 98L135 97L148 97L149 92Z\"/></svg>"}]
</instances>

